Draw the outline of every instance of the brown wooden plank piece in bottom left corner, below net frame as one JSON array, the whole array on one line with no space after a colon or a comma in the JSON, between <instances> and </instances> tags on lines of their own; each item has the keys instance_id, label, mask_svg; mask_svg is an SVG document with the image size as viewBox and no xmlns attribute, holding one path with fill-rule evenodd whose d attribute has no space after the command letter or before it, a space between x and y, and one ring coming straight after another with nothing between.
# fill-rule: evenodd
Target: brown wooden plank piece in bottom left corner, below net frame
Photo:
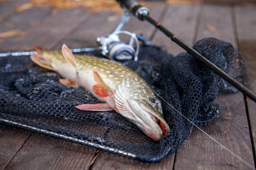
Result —
<instances>
[{"instance_id":1,"label":"brown wooden plank piece in bottom left corner, below net frame","mask_svg":"<svg viewBox=\"0 0 256 170\"><path fill-rule=\"evenodd\" d=\"M0 169L4 169L31 132L0 125Z\"/></svg>"}]
</instances>

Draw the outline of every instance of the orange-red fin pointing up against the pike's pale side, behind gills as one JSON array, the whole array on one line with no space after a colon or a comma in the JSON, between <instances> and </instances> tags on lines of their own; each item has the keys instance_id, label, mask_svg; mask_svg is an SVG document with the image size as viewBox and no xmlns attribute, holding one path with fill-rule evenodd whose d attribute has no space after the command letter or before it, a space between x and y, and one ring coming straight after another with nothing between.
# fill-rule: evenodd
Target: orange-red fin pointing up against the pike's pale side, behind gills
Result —
<instances>
[{"instance_id":1,"label":"orange-red fin pointing up against the pike's pale side, behind gills","mask_svg":"<svg viewBox=\"0 0 256 170\"><path fill-rule=\"evenodd\" d=\"M95 92L95 94L99 97L111 96L113 94L112 90L109 89L109 87L104 83L99 73L97 73L97 71L93 71L93 76L96 82L96 84L92 87L93 92Z\"/></svg>"}]
</instances>

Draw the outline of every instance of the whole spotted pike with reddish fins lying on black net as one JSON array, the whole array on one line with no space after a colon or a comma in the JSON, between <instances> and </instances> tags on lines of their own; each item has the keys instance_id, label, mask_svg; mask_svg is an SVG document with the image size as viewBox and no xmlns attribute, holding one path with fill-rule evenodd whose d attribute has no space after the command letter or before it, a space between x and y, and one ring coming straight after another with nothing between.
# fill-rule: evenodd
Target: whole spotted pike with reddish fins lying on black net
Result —
<instances>
[{"instance_id":1,"label":"whole spotted pike with reddish fins lying on black net","mask_svg":"<svg viewBox=\"0 0 256 170\"><path fill-rule=\"evenodd\" d=\"M160 101L147 82L128 67L113 60L73 55L67 45L62 46L62 53L60 50L36 51L31 60L60 74L60 83L83 87L103 102L81 104L76 106L79 110L115 110L155 141L160 141L169 131Z\"/></svg>"}]
</instances>

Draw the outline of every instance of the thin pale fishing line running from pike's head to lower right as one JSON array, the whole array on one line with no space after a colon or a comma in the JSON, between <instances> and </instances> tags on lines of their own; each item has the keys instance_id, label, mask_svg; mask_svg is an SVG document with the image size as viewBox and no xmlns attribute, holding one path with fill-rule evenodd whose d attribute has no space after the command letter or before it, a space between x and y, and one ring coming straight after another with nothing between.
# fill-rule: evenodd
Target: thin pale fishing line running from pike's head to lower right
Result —
<instances>
[{"instance_id":1,"label":"thin pale fishing line running from pike's head to lower right","mask_svg":"<svg viewBox=\"0 0 256 170\"><path fill-rule=\"evenodd\" d=\"M172 104L168 103L166 100L163 99L163 97L161 97L159 94L157 94L157 92L155 92L153 89L152 90L157 96L159 96L166 104L168 104L169 106L171 106L173 108L173 110L177 111L180 115L182 115L182 113L180 113L178 110L176 110ZM188 122L190 122L191 124L193 124L195 127L197 127L197 129L199 129L200 131L202 131L206 136L208 136L210 139L212 139L212 141L216 142L218 145L220 145L222 148L224 148L225 150L227 150L229 153L231 153L234 157L236 157L237 159L241 160L242 162L244 162L244 164L246 164L246 166L254 169L254 167L252 166L252 164L246 162L245 160L243 160L241 157L239 157L239 155L236 155L236 153L232 152L230 149L228 149L226 146L222 145L219 141L217 141L216 139L214 139L211 135L207 134L207 132L205 132L203 129L201 129L200 127L198 127L197 125L195 125L193 122L191 122L191 120L189 120L189 118L185 117L184 115L182 115L182 117L186 118L186 120L188 120Z\"/></svg>"}]
</instances>

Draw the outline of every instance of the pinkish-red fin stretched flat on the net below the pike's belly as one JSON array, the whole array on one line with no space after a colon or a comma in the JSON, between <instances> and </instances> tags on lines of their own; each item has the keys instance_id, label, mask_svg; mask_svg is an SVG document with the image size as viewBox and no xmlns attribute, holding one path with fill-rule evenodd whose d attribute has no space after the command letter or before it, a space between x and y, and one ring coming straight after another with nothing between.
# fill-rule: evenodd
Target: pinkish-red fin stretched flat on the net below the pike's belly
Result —
<instances>
[{"instance_id":1,"label":"pinkish-red fin stretched flat on the net below the pike's belly","mask_svg":"<svg viewBox=\"0 0 256 170\"><path fill-rule=\"evenodd\" d=\"M99 103L99 104L81 104L76 106L79 110L88 110L88 111L111 111L113 110L108 103Z\"/></svg>"}]
</instances>

